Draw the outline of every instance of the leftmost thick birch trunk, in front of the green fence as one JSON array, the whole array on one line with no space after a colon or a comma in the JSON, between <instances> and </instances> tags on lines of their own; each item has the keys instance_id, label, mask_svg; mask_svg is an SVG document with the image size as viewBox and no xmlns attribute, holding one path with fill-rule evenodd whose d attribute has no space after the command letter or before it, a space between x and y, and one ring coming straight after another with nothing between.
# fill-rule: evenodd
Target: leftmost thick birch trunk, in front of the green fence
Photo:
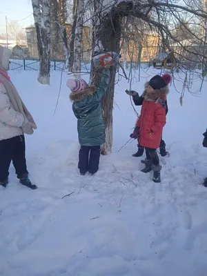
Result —
<instances>
[{"instance_id":1,"label":"leftmost thick birch trunk, in front of the green fence","mask_svg":"<svg viewBox=\"0 0 207 276\"><path fill-rule=\"evenodd\" d=\"M37 48L40 59L38 81L50 84L50 0L32 0Z\"/></svg>"}]
</instances>

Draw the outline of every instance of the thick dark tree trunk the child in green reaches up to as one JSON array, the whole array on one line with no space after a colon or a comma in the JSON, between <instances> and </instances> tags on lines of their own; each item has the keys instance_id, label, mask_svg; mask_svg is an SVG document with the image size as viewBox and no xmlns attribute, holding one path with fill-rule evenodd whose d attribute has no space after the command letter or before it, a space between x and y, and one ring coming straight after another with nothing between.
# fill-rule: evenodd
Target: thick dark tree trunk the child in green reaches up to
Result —
<instances>
[{"instance_id":1,"label":"thick dark tree trunk the child in green reaches up to","mask_svg":"<svg viewBox=\"0 0 207 276\"><path fill-rule=\"evenodd\" d=\"M95 17L95 20L93 21L93 41L95 46L93 55L97 55L101 51L119 53L119 44L121 40L121 24L119 16L104 17L104 14L101 12L101 5L97 1L95 1L95 13L97 14L97 17ZM103 118L106 126L106 142L101 149L102 155L107 155L112 151L112 110L117 66L112 66L110 70L110 84L106 95L102 100ZM95 86L98 86L100 73L93 67L91 73L92 83L95 84Z\"/></svg>"}]
</instances>

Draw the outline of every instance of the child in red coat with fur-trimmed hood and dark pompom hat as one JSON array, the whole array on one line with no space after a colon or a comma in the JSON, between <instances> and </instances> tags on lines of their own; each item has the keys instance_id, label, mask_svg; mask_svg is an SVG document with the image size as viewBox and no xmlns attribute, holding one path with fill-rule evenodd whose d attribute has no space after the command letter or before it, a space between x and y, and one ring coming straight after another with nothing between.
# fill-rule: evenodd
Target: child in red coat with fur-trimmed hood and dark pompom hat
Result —
<instances>
[{"instance_id":1,"label":"child in red coat with fur-trimmed hood and dark pompom hat","mask_svg":"<svg viewBox=\"0 0 207 276\"><path fill-rule=\"evenodd\" d=\"M139 128L139 145L146 150L146 159L141 162L145 164L142 172L153 170L153 181L160 182L159 157L157 148L161 141L162 130L166 124L166 95L169 92L168 83L170 75L163 77L156 75L146 83L146 89L142 97L144 101L141 106L141 115L137 121ZM127 94L130 95L128 91ZM133 96L133 95L131 95Z\"/></svg>"}]
</instances>

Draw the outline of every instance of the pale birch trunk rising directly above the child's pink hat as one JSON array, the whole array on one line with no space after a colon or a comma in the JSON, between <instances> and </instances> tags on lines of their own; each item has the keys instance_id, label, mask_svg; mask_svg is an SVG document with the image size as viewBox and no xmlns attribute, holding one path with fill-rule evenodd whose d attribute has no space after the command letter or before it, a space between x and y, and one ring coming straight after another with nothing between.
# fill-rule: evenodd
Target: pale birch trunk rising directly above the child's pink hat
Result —
<instances>
[{"instance_id":1,"label":"pale birch trunk rising directly above the child's pink hat","mask_svg":"<svg viewBox=\"0 0 207 276\"><path fill-rule=\"evenodd\" d=\"M81 52L83 41L83 16L84 16L84 0L77 0L77 26L75 28L74 41L74 63L73 70L75 77L80 77L81 72Z\"/></svg>"}]
</instances>

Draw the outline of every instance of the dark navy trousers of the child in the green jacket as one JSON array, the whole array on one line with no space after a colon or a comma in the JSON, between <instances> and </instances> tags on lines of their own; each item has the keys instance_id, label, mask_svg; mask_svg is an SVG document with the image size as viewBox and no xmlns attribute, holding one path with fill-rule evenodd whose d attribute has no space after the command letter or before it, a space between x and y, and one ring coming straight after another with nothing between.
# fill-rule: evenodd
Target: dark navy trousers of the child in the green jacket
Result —
<instances>
[{"instance_id":1,"label":"dark navy trousers of the child in the green jacket","mask_svg":"<svg viewBox=\"0 0 207 276\"><path fill-rule=\"evenodd\" d=\"M79 150L79 170L94 174L99 170L99 159L101 155L100 146L81 146Z\"/></svg>"}]
</instances>

